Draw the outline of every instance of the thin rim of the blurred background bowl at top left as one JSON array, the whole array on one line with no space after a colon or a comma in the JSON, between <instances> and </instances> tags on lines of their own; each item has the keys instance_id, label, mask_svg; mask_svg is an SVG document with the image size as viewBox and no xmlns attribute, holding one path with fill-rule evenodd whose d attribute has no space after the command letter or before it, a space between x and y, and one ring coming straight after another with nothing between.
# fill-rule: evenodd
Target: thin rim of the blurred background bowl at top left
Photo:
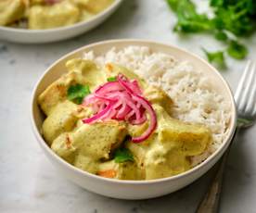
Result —
<instances>
[{"instance_id":1,"label":"thin rim of the blurred background bowl at top left","mask_svg":"<svg viewBox=\"0 0 256 213\"><path fill-rule=\"evenodd\" d=\"M96 14L92 19L88 19L88 20L83 20L83 21L79 21L77 23L74 23L70 26L64 26L64 27L57 27L57 28L52 28L52 29L45 29L45 30L30 30L30 29L19 29L19 28L12 28L12 27L6 27L6 26L0 26L0 31L9 31L9 32L20 32L20 33L28 33L28 34L32 34L32 33L50 33L50 32L56 32L56 31L69 31L69 30L73 30L76 28L80 28L84 25L89 25L90 23L93 23L94 21L96 21L96 19L100 19L101 17L107 15L112 9L117 8L123 0L114 0L114 2L108 6L106 9L104 9L103 11L99 12L98 14Z\"/></svg>"}]
</instances>

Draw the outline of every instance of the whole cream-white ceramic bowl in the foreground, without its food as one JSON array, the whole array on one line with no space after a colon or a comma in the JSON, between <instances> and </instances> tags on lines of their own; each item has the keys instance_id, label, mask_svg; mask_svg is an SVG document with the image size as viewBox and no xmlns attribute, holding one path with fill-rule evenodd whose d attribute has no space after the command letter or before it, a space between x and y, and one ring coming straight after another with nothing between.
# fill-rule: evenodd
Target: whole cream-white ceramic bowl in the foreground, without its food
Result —
<instances>
[{"instance_id":1,"label":"whole cream-white ceramic bowl in the foreground, without its food","mask_svg":"<svg viewBox=\"0 0 256 213\"><path fill-rule=\"evenodd\" d=\"M190 169L182 174L152 181L119 181L111 180L96 176L94 174L88 173L81 169L77 169L58 157L45 143L42 135L40 134L40 129L42 122L44 120L43 113L37 105L37 97L41 94L45 88L53 81L56 81L58 77L65 72L65 62L70 58L82 56L83 52L94 50L96 54L102 54L108 51L111 47L115 46L117 48L123 48L128 45L145 45L151 48L152 51L160 51L166 54L171 54L178 59L190 61L195 69L203 70L210 79L210 83L214 89L223 94L224 98L231 103L231 121L230 121L230 131L226 137L224 143L219 147L219 149L207 158L203 163L199 164L197 167ZM45 71L45 74L40 78L35 86L32 94L32 131L35 134L37 142L40 144L45 152L45 155L52 161L56 166L58 172L70 179L70 181L77 183L84 189L87 189L96 194L103 194L110 197L122 198L122 199L145 199L157 197L163 194L170 194L176 190L185 187L187 184L194 182L205 172L207 172L211 167L217 162L217 160L222 157L225 149L230 143L235 128L237 112L235 107L235 102L230 88L219 72L211 67L211 65L205 60L186 52L185 50L179 49L170 44L159 44L149 41L140 40L115 40L107 41L97 44L90 44L84 46L70 54L63 56L56 63L54 63L50 68Z\"/></svg>"}]
</instances>

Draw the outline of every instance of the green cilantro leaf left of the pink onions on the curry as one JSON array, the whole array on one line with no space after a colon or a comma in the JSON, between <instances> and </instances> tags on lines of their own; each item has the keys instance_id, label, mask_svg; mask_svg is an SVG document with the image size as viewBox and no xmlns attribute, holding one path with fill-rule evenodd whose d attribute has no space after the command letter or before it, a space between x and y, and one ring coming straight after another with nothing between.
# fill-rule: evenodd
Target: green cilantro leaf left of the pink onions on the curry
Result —
<instances>
[{"instance_id":1,"label":"green cilantro leaf left of the pink onions on the curry","mask_svg":"<svg viewBox=\"0 0 256 213\"><path fill-rule=\"evenodd\" d=\"M76 104L82 104L83 98L90 94L90 88L88 85L75 84L71 85L68 89L68 99Z\"/></svg>"}]
</instances>

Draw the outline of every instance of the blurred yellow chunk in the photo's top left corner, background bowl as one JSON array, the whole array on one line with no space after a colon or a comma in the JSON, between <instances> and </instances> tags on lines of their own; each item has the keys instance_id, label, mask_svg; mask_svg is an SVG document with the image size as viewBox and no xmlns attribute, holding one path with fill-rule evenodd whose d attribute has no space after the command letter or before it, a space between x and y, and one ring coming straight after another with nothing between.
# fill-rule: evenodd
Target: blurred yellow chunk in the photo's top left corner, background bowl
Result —
<instances>
[{"instance_id":1,"label":"blurred yellow chunk in the photo's top left corner, background bowl","mask_svg":"<svg viewBox=\"0 0 256 213\"><path fill-rule=\"evenodd\" d=\"M0 25L5 26L24 16L26 5L22 0L0 1Z\"/></svg>"}]
</instances>

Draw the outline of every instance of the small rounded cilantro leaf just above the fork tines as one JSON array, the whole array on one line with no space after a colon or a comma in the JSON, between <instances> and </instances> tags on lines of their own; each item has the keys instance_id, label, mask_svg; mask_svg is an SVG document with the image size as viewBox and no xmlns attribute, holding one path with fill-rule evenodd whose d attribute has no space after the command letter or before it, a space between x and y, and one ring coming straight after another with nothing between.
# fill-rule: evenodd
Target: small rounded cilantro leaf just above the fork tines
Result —
<instances>
[{"instance_id":1,"label":"small rounded cilantro leaf just above the fork tines","mask_svg":"<svg viewBox=\"0 0 256 213\"><path fill-rule=\"evenodd\" d=\"M248 54L248 50L243 44L239 44L237 41L231 41L227 47L227 53L236 59L244 59Z\"/></svg>"}]
</instances>

